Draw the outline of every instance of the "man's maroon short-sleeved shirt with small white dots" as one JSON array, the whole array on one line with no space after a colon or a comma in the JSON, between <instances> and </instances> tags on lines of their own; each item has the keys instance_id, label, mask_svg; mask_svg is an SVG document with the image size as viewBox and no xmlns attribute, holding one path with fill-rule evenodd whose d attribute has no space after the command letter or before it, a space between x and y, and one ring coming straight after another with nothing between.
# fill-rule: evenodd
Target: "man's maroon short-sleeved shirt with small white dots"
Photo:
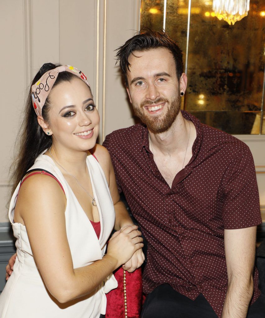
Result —
<instances>
[{"instance_id":1,"label":"man's maroon short-sleeved shirt with small white dots","mask_svg":"<svg viewBox=\"0 0 265 318\"><path fill-rule=\"evenodd\" d=\"M221 317L228 281L224 229L262 222L255 167L246 144L182 114L195 125L197 138L172 188L154 162L144 125L114 131L104 146L148 242L144 292L168 283L193 300L202 293ZM255 269L252 302L259 295Z\"/></svg>"}]
</instances>

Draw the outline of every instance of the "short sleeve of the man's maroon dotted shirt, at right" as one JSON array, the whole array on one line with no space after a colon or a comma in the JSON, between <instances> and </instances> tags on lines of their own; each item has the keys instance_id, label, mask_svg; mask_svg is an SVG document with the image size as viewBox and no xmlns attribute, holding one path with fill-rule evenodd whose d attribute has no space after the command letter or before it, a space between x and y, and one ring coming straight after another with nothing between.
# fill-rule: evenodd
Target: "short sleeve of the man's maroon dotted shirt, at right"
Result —
<instances>
[{"instance_id":1,"label":"short sleeve of the man's maroon dotted shirt, at right","mask_svg":"<svg viewBox=\"0 0 265 318\"><path fill-rule=\"evenodd\" d=\"M222 218L225 229L262 223L254 160L246 146L226 170Z\"/></svg>"}]
</instances>

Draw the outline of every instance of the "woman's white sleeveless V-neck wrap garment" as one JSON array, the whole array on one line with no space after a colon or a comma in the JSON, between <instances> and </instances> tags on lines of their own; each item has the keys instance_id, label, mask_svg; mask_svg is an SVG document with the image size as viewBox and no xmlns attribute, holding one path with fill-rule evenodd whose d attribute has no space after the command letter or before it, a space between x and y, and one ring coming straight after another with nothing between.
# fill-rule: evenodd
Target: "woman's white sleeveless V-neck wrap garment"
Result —
<instances>
[{"instance_id":1,"label":"woman's white sleeveless V-neck wrap garment","mask_svg":"<svg viewBox=\"0 0 265 318\"><path fill-rule=\"evenodd\" d=\"M92 155L87 156L87 165L100 217L101 231L99 239L97 239L90 220L54 161L49 156L41 154L30 168L45 169L51 172L62 184L67 199L65 210L66 231L74 268L86 266L102 259L107 239L115 221L114 207L104 172ZM0 317L88 318L105 314L105 293L118 286L112 274L90 295L66 304L60 304L47 292L32 256L26 227L14 223L14 209L18 190L19 185L12 196L9 208L9 219L14 236L17 239L18 256L14 271L0 295Z\"/></svg>"}]
</instances>

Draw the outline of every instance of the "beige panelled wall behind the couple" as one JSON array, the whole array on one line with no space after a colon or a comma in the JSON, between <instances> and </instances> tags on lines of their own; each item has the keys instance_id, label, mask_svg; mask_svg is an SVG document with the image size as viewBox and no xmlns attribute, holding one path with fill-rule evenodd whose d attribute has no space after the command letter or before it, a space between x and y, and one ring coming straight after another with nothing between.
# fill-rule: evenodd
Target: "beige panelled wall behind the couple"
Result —
<instances>
[{"instance_id":1,"label":"beige panelled wall behind the couple","mask_svg":"<svg viewBox=\"0 0 265 318\"><path fill-rule=\"evenodd\" d=\"M43 63L70 64L88 76L101 115L99 142L134 123L114 50L139 30L140 0L12 0L1 1L0 12L0 222L6 222L8 171L25 92ZM265 138L239 137L254 154L265 205Z\"/></svg>"}]
</instances>

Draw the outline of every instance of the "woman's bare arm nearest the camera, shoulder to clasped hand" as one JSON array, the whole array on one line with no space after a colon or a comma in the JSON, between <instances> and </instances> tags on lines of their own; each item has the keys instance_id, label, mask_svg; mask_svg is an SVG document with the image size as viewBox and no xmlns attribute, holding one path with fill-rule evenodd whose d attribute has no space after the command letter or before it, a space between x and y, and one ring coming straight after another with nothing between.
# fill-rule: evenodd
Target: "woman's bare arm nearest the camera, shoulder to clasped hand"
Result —
<instances>
[{"instance_id":1,"label":"woman's bare arm nearest the camera, shoulder to clasped hand","mask_svg":"<svg viewBox=\"0 0 265 318\"><path fill-rule=\"evenodd\" d=\"M42 278L60 302L90 293L143 244L137 226L118 231L102 260L73 268L65 224L66 199L51 177L35 175L21 186L15 218L22 218Z\"/></svg>"}]
</instances>

